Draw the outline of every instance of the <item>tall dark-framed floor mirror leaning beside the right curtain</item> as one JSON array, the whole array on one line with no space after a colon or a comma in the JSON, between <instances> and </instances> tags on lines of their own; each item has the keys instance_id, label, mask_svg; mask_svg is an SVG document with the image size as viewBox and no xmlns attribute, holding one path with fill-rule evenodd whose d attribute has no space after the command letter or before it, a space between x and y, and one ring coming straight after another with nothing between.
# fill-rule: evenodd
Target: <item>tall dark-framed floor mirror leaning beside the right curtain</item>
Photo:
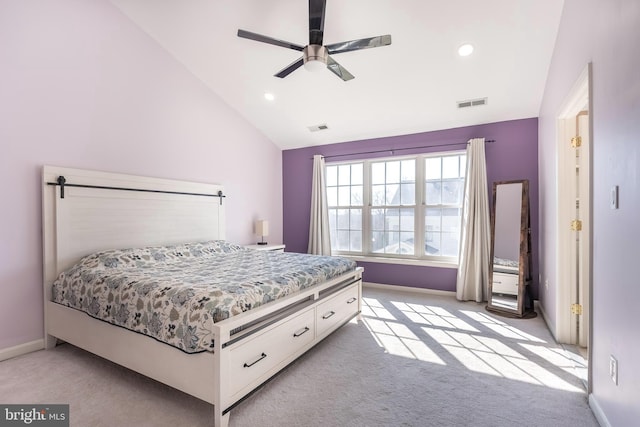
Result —
<instances>
[{"instance_id":1,"label":"tall dark-framed floor mirror leaning beside the right curtain","mask_svg":"<svg viewBox=\"0 0 640 427\"><path fill-rule=\"evenodd\" d=\"M531 298L529 181L493 183L487 310L534 317Z\"/></svg>"}]
</instances>

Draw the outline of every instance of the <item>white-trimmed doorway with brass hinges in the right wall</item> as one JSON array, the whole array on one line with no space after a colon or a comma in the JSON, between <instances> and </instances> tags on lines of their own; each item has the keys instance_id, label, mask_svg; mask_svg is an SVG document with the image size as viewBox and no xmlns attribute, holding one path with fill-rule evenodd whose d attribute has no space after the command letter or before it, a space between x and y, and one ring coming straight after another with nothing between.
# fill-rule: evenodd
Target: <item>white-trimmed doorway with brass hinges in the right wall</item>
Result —
<instances>
[{"instance_id":1,"label":"white-trimmed doorway with brass hinges in the right wall","mask_svg":"<svg viewBox=\"0 0 640 427\"><path fill-rule=\"evenodd\" d=\"M589 383L591 318L591 64L558 115L558 277L556 340L575 346Z\"/></svg>"}]
</instances>

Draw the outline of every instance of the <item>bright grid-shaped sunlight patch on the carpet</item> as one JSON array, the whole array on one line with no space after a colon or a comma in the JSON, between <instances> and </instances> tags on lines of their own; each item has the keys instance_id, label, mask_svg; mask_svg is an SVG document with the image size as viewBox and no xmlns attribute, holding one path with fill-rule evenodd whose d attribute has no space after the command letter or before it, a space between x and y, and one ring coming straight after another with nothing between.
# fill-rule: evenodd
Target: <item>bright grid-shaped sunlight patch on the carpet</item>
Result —
<instances>
[{"instance_id":1,"label":"bright grid-shaped sunlight patch on the carpet","mask_svg":"<svg viewBox=\"0 0 640 427\"><path fill-rule=\"evenodd\" d=\"M473 372L584 392L540 364L549 363L575 375L574 363L562 349L549 348L544 345L546 341L490 314L456 311L466 317L462 319L434 305L399 301L385 304L375 298L363 298L362 322L388 354L438 365L456 361ZM446 354L451 361L447 361Z\"/></svg>"}]
</instances>

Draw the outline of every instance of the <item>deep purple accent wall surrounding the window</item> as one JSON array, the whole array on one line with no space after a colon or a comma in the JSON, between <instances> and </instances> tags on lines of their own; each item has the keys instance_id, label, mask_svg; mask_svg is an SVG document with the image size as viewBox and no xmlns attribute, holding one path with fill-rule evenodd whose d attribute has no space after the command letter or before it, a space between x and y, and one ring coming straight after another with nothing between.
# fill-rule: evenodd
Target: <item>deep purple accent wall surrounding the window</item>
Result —
<instances>
[{"instance_id":1,"label":"deep purple accent wall surrounding the window","mask_svg":"<svg viewBox=\"0 0 640 427\"><path fill-rule=\"evenodd\" d=\"M282 153L283 237L288 251L307 252L311 204L311 176L314 154L335 156L385 150L376 154L354 154L336 160L357 160L466 148L466 141L481 137L495 142L486 145L487 189L491 203L494 181L528 179L532 224L533 294L538 295L538 119L522 119L463 128L446 129L387 138L352 141L340 144L285 150ZM442 144L459 143L442 147ZM331 159L328 159L329 162ZM361 263L364 280L374 283L416 288L455 291L456 270L452 268L407 266L398 264Z\"/></svg>"}]
</instances>

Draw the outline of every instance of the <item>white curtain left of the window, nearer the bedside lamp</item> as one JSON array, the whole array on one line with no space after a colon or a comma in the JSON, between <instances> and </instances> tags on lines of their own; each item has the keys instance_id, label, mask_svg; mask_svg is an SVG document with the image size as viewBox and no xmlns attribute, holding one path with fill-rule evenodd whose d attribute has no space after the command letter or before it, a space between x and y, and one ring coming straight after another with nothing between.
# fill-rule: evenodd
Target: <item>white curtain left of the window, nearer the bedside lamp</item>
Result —
<instances>
[{"instance_id":1,"label":"white curtain left of the window, nearer the bedside lamp","mask_svg":"<svg viewBox=\"0 0 640 427\"><path fill-rule=\"evenodd\" d=\"M329 210L327 208L327 191L324 183L324 157L318 154L313 156L308 252L315 255L331 255Z\"/></svg>"}]
</instances>

